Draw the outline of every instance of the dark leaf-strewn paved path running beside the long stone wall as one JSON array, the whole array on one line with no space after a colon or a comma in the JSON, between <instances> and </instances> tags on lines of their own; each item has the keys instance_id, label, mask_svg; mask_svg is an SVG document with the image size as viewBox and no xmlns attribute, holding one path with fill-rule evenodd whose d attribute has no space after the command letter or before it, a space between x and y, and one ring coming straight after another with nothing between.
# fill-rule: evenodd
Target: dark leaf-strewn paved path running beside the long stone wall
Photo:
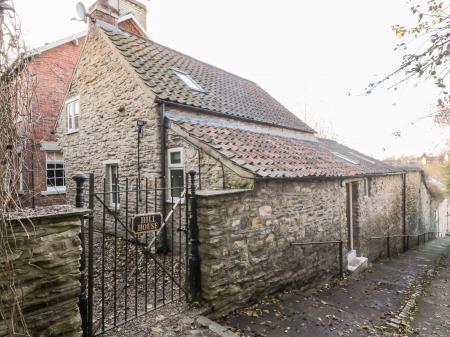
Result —
<instances>
[{"instance_id":1,"label":"dark leaf-strewn paved path running beside the long stone wall","mask_svg":"<svg viewBox=\"0 0 450 337\"><path fill-rule=\"evenodd\" d=\"M414 282L448 251L450 238L434 240L331 289L310 296L298 290L280 293L221 323L251 337L381 336L380 326L395 316Z\"/></svg>"}]
</instances>

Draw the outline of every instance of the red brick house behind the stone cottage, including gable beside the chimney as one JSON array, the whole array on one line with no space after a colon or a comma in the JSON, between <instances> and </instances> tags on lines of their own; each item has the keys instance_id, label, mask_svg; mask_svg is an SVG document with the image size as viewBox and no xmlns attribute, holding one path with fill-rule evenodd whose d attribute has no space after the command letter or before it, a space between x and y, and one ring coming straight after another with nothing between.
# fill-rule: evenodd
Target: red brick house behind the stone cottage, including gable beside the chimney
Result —
<instances>
[{"instance_id":1,"label":"red brick house behind the stone cottage, including gable beside the chimney","mask_svg":"<svg viewBox=\"0 0 450 337\"><path fill-rule=\"evenodd\" d=\"M99 22L117 25L134 35L146 36L147 11L143 4L135 0L110 2L95 2L90 7L91 17ZM35 125L31 148L23 151L20 190L25 204L33 207L65 202L63 154L53 131L86 34L81 32L46 44L35 49L30 57L28 69L36 79Z\"/></svg>"}]
</instances>

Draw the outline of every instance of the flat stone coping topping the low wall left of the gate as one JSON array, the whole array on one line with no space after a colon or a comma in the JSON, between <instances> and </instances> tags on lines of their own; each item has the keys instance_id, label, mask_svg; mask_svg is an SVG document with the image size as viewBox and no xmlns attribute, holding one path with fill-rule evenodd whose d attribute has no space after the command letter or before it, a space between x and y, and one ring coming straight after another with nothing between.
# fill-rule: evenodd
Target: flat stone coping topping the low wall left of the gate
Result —
<instances>
[{"instance_id":1,"label":"flat stone coping topping the low wall left of the gate","mask_svg":"<svg viewBox=\"0 0 450 337\"><path fill-rule=\"evenodd\" d=\"M54 219L54 218L65 218L65 217L75 217L88 214L90 209L88 208L76 208L71 205L59 205L59 206L49 206L49 207L36 207L36 208L25 208L19 212L12 212L6 215L6 218L10 221L13 220L32 220L32 219Z\"/></svg>"}]
</instances>

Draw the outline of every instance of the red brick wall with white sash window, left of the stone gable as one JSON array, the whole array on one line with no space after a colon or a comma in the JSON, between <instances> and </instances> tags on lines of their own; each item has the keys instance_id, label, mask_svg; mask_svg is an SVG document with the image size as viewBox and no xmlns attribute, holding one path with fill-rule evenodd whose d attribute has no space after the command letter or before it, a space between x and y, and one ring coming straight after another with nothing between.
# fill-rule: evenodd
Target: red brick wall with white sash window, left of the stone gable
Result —
<instances>
[{"instance_id":1,"label":"red brick wall with white sash window, left of the stone gable","mask_svg":"<svg viewBox=\"0 0 450 337\"><path fill-rule=\"evenodd\" d=\"M53 129L85 36L82 32L37 48L28 64L36 80L35 123L20 189L31 206L65 202L64 162Z\"/></svg>"}]
</instances>

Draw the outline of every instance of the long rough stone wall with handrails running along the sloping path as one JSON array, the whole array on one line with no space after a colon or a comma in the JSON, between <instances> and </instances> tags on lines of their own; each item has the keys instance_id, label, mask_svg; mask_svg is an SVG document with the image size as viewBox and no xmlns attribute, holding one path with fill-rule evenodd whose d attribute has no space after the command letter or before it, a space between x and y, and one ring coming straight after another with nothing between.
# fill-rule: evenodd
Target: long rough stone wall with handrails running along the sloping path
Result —
<instances>
[{"instance_id":1,"label":"long rough stone wall with handrails running along the sloping path","mask_svg":"<svg viewBox=\"0 0 450 337\"><path fill-rule=\"evenodd\" d=\"M370 238L403 233L403 176L371 177L368 182L368 195L363 180L354 182L355 241L360 243L357 255L373 260L386 256L386 241ZM408 221L430 212L430 204L422 201L423 207L412 207L427 193L421 179L415 182L418 186L410 191L416 193L407 196ZM246 192L199 192L198 205L203 298L217 314L286 285L317 284L338 273L337 246L291 243L342 240L349 248L345 181L259 181ZM434 228L430 221L424 222L426 231ZM406 230L416 233L408 223ZM391 252L400 252L402 243L392 240Z\"/></svg>"}]
</instances>

